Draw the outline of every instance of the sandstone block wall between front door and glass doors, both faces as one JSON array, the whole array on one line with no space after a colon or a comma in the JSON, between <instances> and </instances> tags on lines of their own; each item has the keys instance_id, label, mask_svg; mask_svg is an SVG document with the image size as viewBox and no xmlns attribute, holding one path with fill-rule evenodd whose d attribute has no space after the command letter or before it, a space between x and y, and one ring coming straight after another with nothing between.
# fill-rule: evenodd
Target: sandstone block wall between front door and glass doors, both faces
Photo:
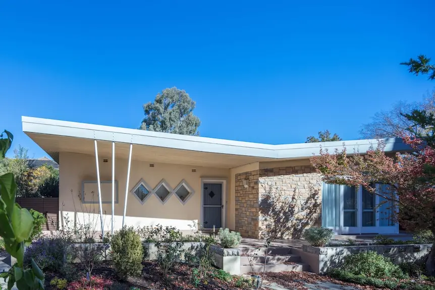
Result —
<instances>
[{"instance_id":1,"label":"sandstone block wall between front door and glass doors, both faces","mask_svg":"<svg viewBox=\"0 0 435 290\"><path fill-rule=\"evenodd\" d=\"M320 225L321 177L309 166L265 168L236 175L236 230L245 238L274 231L300 238Z\"/></svg>"}]
</instances>

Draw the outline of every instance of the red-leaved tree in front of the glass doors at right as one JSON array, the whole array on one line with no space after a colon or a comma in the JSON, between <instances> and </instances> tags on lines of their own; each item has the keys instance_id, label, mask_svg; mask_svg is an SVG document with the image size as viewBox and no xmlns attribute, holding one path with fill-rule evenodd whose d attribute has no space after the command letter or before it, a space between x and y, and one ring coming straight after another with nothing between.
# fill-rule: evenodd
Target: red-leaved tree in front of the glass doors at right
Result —
<instances>
[{"instance_id":1,"label":"red-leaved tree in front of the glass doors at right","mask_svg":"<svg viewBox=\"0 0 435 290\"><path fill-rule=\"evenodd\" d=\"M320 150L311 158L312 165L322 173L323 180L332 184L363 186L369 192L383 197L383 209L409 230L429 229L435 235L435 150L421 139L404 137L414 152L388 156L384 144L366 154L336 150L334 154ZM378 187L375 183L387 186ZM397 209L400 208L400 214ZM379 216L382 216L380 214ZM428 256L426 270L435 274L435 249Z\"/></svg>"}]
</instances>

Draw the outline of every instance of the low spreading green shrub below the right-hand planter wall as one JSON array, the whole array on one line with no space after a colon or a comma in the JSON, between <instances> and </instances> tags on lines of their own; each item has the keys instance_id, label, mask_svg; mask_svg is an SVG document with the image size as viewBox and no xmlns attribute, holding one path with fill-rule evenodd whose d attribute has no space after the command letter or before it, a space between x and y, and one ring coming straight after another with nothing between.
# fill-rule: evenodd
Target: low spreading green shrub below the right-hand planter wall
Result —
<instances>
[{"instance_id":1,"label":"low spreading green shrub below the right-hand planter wall","mask_svg":"<svg viewBox=\"0 0 435 290\"><path fill-rule=\"evenodd\" d=\"M374 278L404 278L402 270L390 258L368 251L346 256L341 267L354 275Z\"/></svg>"}]
</instances>

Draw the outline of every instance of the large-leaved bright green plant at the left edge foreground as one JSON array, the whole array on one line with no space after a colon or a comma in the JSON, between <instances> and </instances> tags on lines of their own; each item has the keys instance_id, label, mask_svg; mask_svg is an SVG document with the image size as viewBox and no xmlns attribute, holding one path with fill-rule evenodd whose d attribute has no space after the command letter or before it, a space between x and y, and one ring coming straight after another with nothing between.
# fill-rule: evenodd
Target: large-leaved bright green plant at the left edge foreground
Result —
<instances>
[{"instance_id":1,"label":"large-leaved bright green plant at the left edge foreground","mask_svg":"<svg viewBox=\"0 0 435 290\"><path fill-rule=\"evenodd\" d=\"M6 138L3 138L6 134ZM12 144L14 136L5 130L0 135L0 161ZM8 289L17 284L19 290L43 289L44 273L32 259L30 267L24 265L24 246L29 245L34 227L32 214L15 203L17 184L12 173L0 176L0 237L5 242L6 251L17 259L8 272L0 278L8 278ZM26 265L27 266L27 265Z\"/></svg>"}]
</instances>

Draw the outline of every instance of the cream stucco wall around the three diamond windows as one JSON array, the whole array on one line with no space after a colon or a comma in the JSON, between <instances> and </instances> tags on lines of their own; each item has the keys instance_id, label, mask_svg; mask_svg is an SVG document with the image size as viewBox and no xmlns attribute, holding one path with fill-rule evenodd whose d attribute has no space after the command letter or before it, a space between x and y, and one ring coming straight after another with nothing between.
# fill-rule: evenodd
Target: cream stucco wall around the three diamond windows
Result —
<instances>
[{"instance_id":1,"label":"cream stucco wall around the three diamond windows","mask_svg":"<svg viewBox=\"0 0 435 290\"><path fill-rule=\"evenodd\" d=\"M101 181L112 180L112 162L103 162L99 158L100 179ZM127 225L173 225L179 229L190 229L189 224L192 220L199 222L201 215L201 178L222 178L229 181L226 195L226 227L234 228L234 197L232 189L234 183L230 180L230 169L195 167L191 165L177 165L166 163L154 163L150 167L149 163L144 161L132 160L129 183L129 196L127 203L126 224ZM124 200L127 178L126 159L116 159L115 161L115 180L118 181L119 203L115 204L115 229L122 226L122 216L124 211ZM258 165L257 165L258 166ZM196 172L192 172L192 168ZM234 177L234 174L232 175ZM95 157L76 153L60 153L60 216L68 215L70 221L74 219L89 219L98 223L99 227L99 210L98 204L82 204L80 194L82 191L82 181L95 181ZM165 179L174 189L185 180L195 191L194 195L183 205L176 196L162 204L155 196L149 196L144 204L130 193L135 185L143 179L153 189L162 179ZM97 194L97 193L95 193ZM104 214L104 228L111 228L112 205L102 205ZM81 212L94 212L94 215L83 214ZM62 225L65 225L65 218L61 218Z\"/></svg>"}]
</instances>

